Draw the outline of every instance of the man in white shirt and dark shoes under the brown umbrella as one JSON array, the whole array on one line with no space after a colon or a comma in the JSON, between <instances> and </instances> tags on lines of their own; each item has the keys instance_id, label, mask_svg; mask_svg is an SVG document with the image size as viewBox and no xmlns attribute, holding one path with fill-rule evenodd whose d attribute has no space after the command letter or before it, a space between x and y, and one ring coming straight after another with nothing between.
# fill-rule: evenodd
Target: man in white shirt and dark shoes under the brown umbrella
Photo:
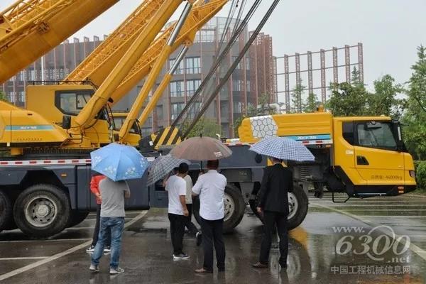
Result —
<instances>
[{"instance_id":1,"label":"man in white shirt and dark shoes under the brown umbrella","mask_svg":"<svg viewBox=\"0 0 426 284\"><path fill-rule=\"evenodd\" d=\"M200 222L204 249L204 264L197 273L213 272L213 243L216 249L217 269L225 271L224 195L226 178L217 173L219 160L207 161L209 171L200 175L192 192L200 195Z\"/></svg>"}]
</instances>

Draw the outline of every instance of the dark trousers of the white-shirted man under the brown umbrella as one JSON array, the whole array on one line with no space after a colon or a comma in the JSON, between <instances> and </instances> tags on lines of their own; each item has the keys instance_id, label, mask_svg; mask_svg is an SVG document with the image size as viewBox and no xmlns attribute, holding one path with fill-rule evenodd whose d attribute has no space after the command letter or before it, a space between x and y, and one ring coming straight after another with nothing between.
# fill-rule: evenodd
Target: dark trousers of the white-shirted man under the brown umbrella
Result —
<instances>
[{"instance_id":1,"label":"dark trousers of the white-shirted man under the brown umbrella","mask_svg":"<svg viewBox=\"0 0 426 284\"><path fill-rule=\"evenodd\" d=\"M202 244L204 249L203 267L207 271L213 270L213 244L216 250L217 268L225 269L225 243L224 243L224 219L206 220L200 217Z\"/></svg>"}]
</instances>

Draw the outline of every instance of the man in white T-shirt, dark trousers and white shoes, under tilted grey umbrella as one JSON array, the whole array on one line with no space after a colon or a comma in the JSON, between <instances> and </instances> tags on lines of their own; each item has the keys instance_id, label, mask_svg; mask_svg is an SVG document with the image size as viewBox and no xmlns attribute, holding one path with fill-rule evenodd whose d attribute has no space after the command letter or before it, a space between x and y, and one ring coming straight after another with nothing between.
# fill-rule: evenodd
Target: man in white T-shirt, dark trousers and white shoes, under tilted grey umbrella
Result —
<instances>
[{"instance_id":1,"label":"man in white T-shirt, dark trousers and white shoes, under tilted grey umbrella","mask_svg":"<svg viewBox=\"0 0 426 284\"><path fill-rule=\"evenodd\" d=\"M190 258L182 251L185 219L188 210L185 202L186 182L183 179L188 171L188 165L179 165L178 175L172 175L167 180L165 190L168 191L168 218L170 220L170 236L173 245L173 259Z\"/></svg>"}]
</instances>

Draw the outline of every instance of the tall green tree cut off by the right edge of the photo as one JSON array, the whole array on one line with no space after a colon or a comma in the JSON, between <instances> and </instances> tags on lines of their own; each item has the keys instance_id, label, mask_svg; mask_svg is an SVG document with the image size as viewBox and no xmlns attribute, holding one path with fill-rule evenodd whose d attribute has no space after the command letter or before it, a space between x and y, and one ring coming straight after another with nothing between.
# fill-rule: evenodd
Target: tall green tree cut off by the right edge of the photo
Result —
<instances>
[{"instance_id":1,"label":"tall green tree cut off by the right edge of the photo","mask_svg":"<svg viewBox=\"0 0 426 284\"><path fill-rule=\"evenodd\" d=\"M417 62L408 82L403 115L405 144L416 159L426 159L426 48L417 48Z\"/></svg>"}]
</instances>

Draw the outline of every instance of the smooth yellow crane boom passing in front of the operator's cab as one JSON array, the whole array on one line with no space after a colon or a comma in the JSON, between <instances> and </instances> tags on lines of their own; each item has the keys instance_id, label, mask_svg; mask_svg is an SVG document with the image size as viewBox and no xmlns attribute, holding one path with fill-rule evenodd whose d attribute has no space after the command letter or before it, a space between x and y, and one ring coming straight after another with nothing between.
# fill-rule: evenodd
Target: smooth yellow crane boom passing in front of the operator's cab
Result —
<instances>
[{"instance_id":1,"label":"smooth yellow crane boom passing in front of the operator's cab","mask_svg":"<svg viewBox=\"0 0 426 284\"><path fill-rule=\"evenodd\" d=\"M133 65L136 64L138 58L141 58L149 45L160 32L170 16L178 9L183 0L167 1L160 6L155 16L146 25L142 33L138 35L130 46L129 50L124 54L123 58L117 63L114 69L109 73L108 77L101 84L97 92L89 99L80 113L75 117L72 125L72 133L82 134L84 128L90 124L99 111L107 104L111 94L119 86L122 80L129 73ZM187 0L190 1L190 0ZM192 1L193 2L193 1Z\"/></svg>"}]
</instances>

